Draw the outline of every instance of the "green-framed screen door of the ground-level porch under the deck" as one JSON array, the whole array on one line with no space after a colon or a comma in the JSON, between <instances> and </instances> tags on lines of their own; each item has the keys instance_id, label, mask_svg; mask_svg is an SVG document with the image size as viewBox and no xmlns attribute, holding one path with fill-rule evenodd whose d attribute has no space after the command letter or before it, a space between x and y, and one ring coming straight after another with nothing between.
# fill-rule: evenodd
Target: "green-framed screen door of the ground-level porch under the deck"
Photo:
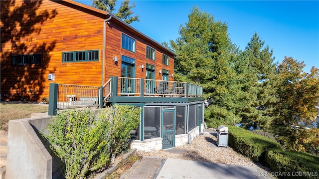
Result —
<instances>
[{"instance_id":1,"label":"green-framed screen door of the ground-level porch under the deck","mask_svg":"<svg viewBox=\"0 0 319 179\"><path fill-rule=\"evenodd\" d=\"M161 122L162 149L175 146L175 110L162 110Z\"/></svg>"}]
</instances>

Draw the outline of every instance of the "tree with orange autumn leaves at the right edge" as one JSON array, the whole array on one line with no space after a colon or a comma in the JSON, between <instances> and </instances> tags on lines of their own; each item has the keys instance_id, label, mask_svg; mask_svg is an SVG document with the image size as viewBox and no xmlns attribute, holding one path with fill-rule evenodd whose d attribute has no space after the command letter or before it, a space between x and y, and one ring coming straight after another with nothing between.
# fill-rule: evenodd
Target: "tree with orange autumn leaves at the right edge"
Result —
<instances>
[{"instance_id":1,"label":"tree with orange autumn leaves at the right edge","mask_svg":"<svg viewBox=\"0 0 319 179\"><path fill-rule=\"evenodd\" d=\"M285 57L278 66L279 102L273 128L276 134L290 138L299 126L311 126L316 122L319 99L319 69L312 67L310 73L303 71L304 62Z\"/></svg>"}]
</instances>

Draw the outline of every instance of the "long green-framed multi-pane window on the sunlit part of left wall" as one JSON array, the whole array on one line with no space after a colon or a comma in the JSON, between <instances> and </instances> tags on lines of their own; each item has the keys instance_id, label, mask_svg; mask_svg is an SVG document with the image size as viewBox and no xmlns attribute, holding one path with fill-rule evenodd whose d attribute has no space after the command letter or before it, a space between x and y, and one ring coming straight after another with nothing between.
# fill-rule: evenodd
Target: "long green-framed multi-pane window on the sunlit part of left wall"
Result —
<instances>
[{"instance_id":1,"label":"long green-framed multi-pane window on the sunlit part of left wall","mask_svg":"<svg viewBox=\"0 0 319 179\"><path fill-rule=\"evenodd\" d=\"M99 50L63 52L62 61L63 62L99 61Z\"/></svg>"}]
</instances>

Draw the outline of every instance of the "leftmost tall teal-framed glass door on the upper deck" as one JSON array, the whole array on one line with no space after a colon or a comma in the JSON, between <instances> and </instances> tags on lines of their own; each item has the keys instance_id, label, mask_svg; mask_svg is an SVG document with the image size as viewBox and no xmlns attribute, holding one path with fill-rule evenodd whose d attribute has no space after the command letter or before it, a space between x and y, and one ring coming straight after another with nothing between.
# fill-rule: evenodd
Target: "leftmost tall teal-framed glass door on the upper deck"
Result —
<instances>
[{"instance_id":1,"label":"leftmost tall teal-framed glass door on the upper deck","mask_svg":"<svg viewBox=\"0 0 319 179\"><path fill-rule=\"evenodd\" d=\"M134 93L134 66L130 63L122 62L121 69L121 92L122 93Z\"/></svg>"}]
</instances>

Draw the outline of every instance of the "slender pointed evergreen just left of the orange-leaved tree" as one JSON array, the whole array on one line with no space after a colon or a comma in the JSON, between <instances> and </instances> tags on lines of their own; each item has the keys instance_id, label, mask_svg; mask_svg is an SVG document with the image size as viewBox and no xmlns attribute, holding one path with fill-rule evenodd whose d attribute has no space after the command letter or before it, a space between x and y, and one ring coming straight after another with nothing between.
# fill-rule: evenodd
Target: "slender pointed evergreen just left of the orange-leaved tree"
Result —
<instances>
[{"instance_id":1,"label":"slender pointed evergreen just left of the orange-leaved tree","mask_svg":"<svg viewBox=\"0 0 319 179\"><path fill-rule=\"evenodd\" d=\"M272 112L276 96L276 63L274 63L273 50L267 45L263 48L262 41L257 33L254 33L251 41L246 46L244 58L250 64L250 69L255 72L254 85L257 89L255 101L245 106L241 113L242 124L247 128L269 130L274 119Z\"/></svg>"}]
</instances>

